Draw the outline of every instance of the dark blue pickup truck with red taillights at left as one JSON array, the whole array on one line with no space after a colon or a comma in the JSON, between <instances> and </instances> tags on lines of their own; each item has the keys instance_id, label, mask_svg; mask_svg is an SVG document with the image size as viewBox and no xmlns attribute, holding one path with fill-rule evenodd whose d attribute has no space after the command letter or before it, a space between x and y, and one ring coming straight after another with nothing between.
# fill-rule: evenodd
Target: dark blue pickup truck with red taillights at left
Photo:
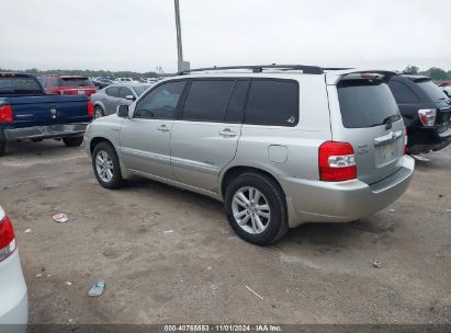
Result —
<instances>
[{"instance_id":1,"label":"dark blue pickup truck with red taillights at left","mask_svg":"<svg viewBox=\"0 0 451 333\"><path fill-rule=\"evenodd\" d=\"M46 95L34 76L0 73L0 156L14 140L61 138L80 146L93 114L86 95Z\"/></svg>"}]
</instances>

